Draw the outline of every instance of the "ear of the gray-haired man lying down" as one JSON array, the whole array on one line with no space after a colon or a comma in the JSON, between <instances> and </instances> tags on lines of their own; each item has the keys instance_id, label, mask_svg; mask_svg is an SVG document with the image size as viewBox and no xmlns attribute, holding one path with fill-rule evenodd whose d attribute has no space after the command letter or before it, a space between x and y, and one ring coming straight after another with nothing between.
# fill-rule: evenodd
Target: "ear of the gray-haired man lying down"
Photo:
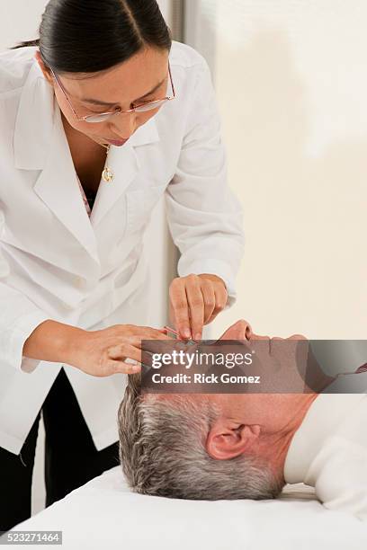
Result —
<instances>
[{"instance_id":1,"label":"ear of the gray-haired man lying down","mask_svg":"<svg viewBox=\"0 0 367 550\"><path fill-rule=\"evenodd\" d=\"M225 418L218 419L206 440L208 455L217 460L238 457L254 447L261 432L259 425L239 424ZM254 451L254 448L252 449Z\"/></svg>"}]
</instances>

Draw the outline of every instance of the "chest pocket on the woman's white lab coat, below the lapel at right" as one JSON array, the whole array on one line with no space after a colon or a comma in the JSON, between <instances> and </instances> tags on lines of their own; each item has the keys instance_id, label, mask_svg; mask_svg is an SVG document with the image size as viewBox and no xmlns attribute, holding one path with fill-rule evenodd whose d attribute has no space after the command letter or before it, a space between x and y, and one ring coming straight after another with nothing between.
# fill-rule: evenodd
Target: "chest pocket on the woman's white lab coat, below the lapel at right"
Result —
<instances>
[{"instance_id":1,"label":"chest pocket on the woman's white lab coat, below the lapel at right","mask_svg":"<svg viewBox=\"0 0 367 550\"><path fill-rule=\"evenodd\" d=\"M125 235L144 231L148 226L153 208L155 208L165 190L166 184L126 193L127 222Z\"/></svg>"}]
</instances>

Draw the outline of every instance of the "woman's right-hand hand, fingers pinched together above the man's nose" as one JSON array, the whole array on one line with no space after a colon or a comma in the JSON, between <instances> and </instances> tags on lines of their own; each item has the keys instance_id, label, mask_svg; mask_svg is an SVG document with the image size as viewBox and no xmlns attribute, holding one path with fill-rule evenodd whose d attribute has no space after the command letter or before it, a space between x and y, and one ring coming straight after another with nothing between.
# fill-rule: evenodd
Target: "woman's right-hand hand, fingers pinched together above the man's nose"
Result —
<instances>
[{"instance_id":1,"label":"woman's right-hand hand, fingers pinched together above the man's nose","mask_svg":"<svg viewBox=\"0 0 367 550\"><path fill-rule=\"evenodd\" d=\"M227 288L217 275L177 277L169 288L170 317L183 339L201 340L202 326L227 304Z\"/></svg>"}]
</instances>

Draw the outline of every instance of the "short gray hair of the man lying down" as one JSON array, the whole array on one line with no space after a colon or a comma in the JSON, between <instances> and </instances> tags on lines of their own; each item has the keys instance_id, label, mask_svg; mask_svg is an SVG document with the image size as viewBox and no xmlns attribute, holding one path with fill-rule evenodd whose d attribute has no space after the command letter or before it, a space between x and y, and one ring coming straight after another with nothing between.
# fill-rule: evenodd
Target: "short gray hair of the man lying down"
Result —
<instances>
[{"instance_id":1,"label":"short gray hair of the man lying down","mask_svg":"<svg viewBox=\"0 0 367 550\"><path fill-rule=\"evenodd\" d=\"M244 455L210 457L205 448L219 409L205 395L141 395L140 374L129 383L118 413L120 460L130 488L178 499L269 499L283 483L270 467Z\"/></svg>"}]
</instances>

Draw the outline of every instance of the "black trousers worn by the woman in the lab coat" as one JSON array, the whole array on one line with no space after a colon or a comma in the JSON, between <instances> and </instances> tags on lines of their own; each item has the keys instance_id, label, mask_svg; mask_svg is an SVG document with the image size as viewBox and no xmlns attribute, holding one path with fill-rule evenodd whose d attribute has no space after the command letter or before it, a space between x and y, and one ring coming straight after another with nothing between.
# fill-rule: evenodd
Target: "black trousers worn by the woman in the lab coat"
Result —
<instances>
[{"instance_id":1,"label":"black trousers worn by the woman in the lab coat","mask_svg":"<svg viewBox=\"0 0 367 550\"><path fill-rule=\"evenodd\" d=\"M95 448L63 368L41 412L46 431L46 506L120 464L118 441L101 451ZM0 448L0 531L7 531L31 517L31 480L39 422L40 412L20 455Z\"/></svg>"}]
</instances>

